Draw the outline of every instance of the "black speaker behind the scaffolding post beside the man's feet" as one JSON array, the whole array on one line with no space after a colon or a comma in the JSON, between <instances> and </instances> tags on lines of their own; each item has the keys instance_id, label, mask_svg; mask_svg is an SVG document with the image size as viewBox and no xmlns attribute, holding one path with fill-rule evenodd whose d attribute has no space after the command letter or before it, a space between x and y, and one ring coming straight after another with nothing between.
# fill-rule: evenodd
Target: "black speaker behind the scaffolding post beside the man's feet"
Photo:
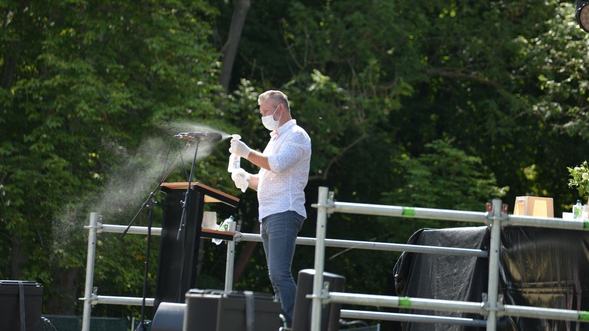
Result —
<instances>
[{"instance_id":1,"label":"black speaker behind the scaffolding post beside the man's feet","mask_svg":"<svg viewBox=\"0 0 589 331\"><path fill-rule=\"evenodd\" d=\"M294 296L294 312L292 331L308 331L311 329L312 300L307 299L307 294L313 294L313 277L315 269L304 269L299 272L296 295ZM323 283L329 283L329 292L343 292L346 277L339 274L323 273ZM340 303L329 303L323 306L321 311L321 330L339 330Z\"/></svg>"}]
</instances>

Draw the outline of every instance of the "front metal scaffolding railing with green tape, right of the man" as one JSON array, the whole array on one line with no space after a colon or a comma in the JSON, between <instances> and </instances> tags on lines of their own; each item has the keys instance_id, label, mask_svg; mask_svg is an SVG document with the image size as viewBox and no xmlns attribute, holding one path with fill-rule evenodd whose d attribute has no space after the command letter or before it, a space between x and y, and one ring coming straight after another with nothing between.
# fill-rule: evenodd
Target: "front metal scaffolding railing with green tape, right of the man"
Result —
<instances>
[{"instance_id":1,"label":"front metal scaffolding railing with green tape, right of the man","mask_svg":"<svg viewBox=\"0 0 589 331\"><path fill-rule=\"evenodd\" d=\"M499 272L499 237L502 226L535 226L569 230L589 230L588 221L571 221L558 218L541 218L531 216L514 216L507 214L507 206L501 200L488 204L487 212L443 210L434 208L417 208L402 206L383 206L376 204L343 203L333 201L333 193L326 187L319 188L317 204L317 229L315 249L315 278L313 280L312 331L319 331L321 307L325 303L361 304L364 306L400 307L416 310L444 310L451 312L477 313L487 320L456 319L431 315L408 315L402 313L363 312L342 309L342 316L362 316L364 318L401 320L408 322L446 323L454 325L487 326L487 330L497 328L497 318L501 316L519 316L555 320L589 322L589 312L580 310L553 309L502 304L498 299ZM491 247L489 247L489 281L487 300L485 302L459 302L453 300L423 299L413 297L379 296L359 293L326 292L323 289L323 266L325 264L325 239L327 215L332 213L366 214L376 216L407 217L416 219L467 221L491 225ZM441 248L441 247L438 247ZM441 253L441 251L436 251ZM421 251L420 253L430 253ZM344 313L345 312L345 313Z\"/></svg>"}]
</instances>

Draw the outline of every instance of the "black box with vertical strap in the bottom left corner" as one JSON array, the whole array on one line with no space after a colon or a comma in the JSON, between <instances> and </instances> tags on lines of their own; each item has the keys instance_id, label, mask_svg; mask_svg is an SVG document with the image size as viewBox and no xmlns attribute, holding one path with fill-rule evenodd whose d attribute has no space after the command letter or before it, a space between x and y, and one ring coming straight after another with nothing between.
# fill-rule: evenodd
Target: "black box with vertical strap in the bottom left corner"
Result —
<instances>
[{"instance_id":1,"label":"black box with vertical strap in the bottom left corner","mask_svg":"<svg viewBox=\"0 0 589 331\"><path fill-rule=\"evenodd\" d=\"M22 307L24 308L22 312L21 290ZM24 322L25 330L39 331L41 329L42 302L43 286L41 284L18 280L0 280L2 330L20 331L21 323Z\"/></svg>"}]
</instances>

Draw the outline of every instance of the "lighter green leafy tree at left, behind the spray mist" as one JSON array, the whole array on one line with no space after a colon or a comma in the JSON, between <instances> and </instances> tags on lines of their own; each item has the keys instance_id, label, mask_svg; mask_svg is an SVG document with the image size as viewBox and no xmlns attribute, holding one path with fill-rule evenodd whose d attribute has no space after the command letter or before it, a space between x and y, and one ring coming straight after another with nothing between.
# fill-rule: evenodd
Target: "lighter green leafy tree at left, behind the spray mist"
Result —
<instances>
[{"instance_id":1,"label":"lighter green leafy tree at left, behind the spray mist","mask_svg":"<svg viewBox=\"0 0 589 331\"><path fill-rule=\"evenodd\" d=\"M80 230L87 213L107 197L101 191L112 188L106 184L114 178L140 180L117 173L139 152L147 131L162 119L203 121L216 114L219 64L202 19L216 11L203 1L3 2L2 7L8 14L0 39L12 47L2 43L0 63L8 71L12 60L16 65L11 86L0 89L0 230L12 239L3 251L15 253L19 244L28 262L11 271L8 261L0 261L0 277L22 272L44 284L45 303L55 303L51 298L60 292L63 270L85 265ZM138 160L142 173L150 167L146 161ZM127 192L133 198L137 193ZM118 217L121 223L131 219ZM101 243L109 247L102 253L98 247L97 286L139 294L145 240ZM123 254L128 252L134 253ZM151 270L152 284L154 274ZM83 284L82 277L75 282ZM75 298L82 296L77 290ZM66 306L76 302L68 300Z\"/></svg>"}]
</instances>

